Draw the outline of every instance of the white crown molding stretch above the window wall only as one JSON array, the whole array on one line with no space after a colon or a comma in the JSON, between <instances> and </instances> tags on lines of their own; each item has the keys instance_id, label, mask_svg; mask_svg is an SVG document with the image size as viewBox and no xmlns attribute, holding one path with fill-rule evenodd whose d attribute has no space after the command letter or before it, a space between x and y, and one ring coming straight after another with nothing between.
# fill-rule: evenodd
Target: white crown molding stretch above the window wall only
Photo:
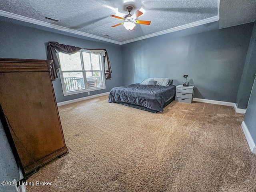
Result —
<instances>
[{"instance_id":1,"label":"white crown molding stretch above the window wall only","mask_svg":"<svg viewBox=\"0 0 256 192\"><path fill-rule=\"evenodd\" d=\"M61 31L64 31L64 32L69 32L69 33L72 33L72 34L77 34L77 35L90 37L90 38L93 38L93 39L98 39L98 40L102 40L102 41L106 41L106 42L121 45L120 42L115 41L115 40L110 40L110 39L107 39L107 38L104 38L104 37L88 34L88 33L85 33L85 32L80 32L80 31L77 31L77 30L73 30L73 29L58 26L58 25L55 25L55 24L47 23L47 22L44 22L44 21L24 17L24 16L21 16L21 15L13 14L13 13L2 11L2 10L0 10L0 16L8 17L8 18L12 18L12 19L16 19L16 20L20 20L20 21L24 21L24 22L28 22L28 23L32 23L32 24L36 24L36 25L40 25L40 26L44 26L44 27L48 27L48 28L53 28L53 29L56 29L56 30L61 30Z\"/></svg>"}]
</instances>

